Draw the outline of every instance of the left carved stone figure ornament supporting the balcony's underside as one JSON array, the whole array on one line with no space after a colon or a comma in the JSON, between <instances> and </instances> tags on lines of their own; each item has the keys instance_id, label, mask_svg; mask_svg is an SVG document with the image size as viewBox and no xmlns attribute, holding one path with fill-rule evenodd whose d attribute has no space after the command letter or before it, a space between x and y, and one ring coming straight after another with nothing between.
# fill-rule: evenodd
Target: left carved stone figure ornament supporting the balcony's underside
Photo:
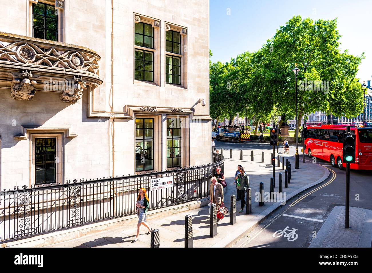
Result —
<instances>
[{"instance_id":1,"label":"left carved stone figure ornament supporting the balcony's underside","mask_svg":"<svg viewBox=\"0 0 372 273\"><path fill-rule=\"evenodd\" d=\"M15 100L32 100L36 92L36 81L30 80L31 71L22 70L23 78L15 78L12 82L10 96Z\"/></svg>"}]
</instances>

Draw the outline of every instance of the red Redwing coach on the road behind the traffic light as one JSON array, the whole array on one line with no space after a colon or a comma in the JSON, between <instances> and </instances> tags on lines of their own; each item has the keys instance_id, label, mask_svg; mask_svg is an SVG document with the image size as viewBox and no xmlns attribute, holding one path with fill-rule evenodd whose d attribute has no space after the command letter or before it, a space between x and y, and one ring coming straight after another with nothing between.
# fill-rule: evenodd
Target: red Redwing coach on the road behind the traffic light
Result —
<instances>
[{"instance_id":1,"label":"red Redwing coach on the road behind the traffic light","mask_svg":"<svg viewBox=\"0 0 372 273\"><path fill-rule=\"evenodd\" d=\"M305 153L310 157L317 157L331 163L333 167L341 170L346 167L342 162L343 134L346 125L307 126L305 136ZM372 128L358 128L350 125L350 131L356 135L355 163L350 164L351 169L372 170Z\"/></svg>"}]
</instances>

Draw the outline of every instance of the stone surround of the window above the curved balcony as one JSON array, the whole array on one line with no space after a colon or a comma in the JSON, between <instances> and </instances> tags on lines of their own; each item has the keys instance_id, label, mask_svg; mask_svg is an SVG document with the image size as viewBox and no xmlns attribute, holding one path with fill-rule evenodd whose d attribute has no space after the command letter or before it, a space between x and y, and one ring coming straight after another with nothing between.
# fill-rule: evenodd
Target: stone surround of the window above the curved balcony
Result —
<instances>
[{"instance_id":1,"label":"stone surround of the window above the curved balcony","mask_svg":"<svg viewBox=\"0 0 372 273\"><path fill-rule=\"evenodd\" d=\"M51 0L28 0L28 20L27 20L27 36L33 37L32 35L32 25L33 25L33 14L32 14L32 4L33 3L45 3L55 6L55 1ZM66 0L64 0L64 7L66 5ZM58 42L66 42L66 13L64 8L58 9Z\"/></svg>"}]
</instances>

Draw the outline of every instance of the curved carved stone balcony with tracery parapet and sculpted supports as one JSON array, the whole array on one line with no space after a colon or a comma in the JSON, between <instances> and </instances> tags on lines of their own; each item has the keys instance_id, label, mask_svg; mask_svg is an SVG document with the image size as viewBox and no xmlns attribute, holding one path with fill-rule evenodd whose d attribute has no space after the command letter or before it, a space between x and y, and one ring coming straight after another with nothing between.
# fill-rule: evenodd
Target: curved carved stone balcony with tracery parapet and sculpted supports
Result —
<instances>
[{"instance_id":1,"label":"curved carved stone balcony with tracery parapet and sculpted supports","mask_svg":"<svg viewBox=\"0 0 372 273\"><path fill-rule=\"evenodd\" d=\"M75 103L84 89L102 84L99 60L83 46L0 32L0 88L15 100L32 100L36 92L49 91Z\"/></svg>"}]
</instances>

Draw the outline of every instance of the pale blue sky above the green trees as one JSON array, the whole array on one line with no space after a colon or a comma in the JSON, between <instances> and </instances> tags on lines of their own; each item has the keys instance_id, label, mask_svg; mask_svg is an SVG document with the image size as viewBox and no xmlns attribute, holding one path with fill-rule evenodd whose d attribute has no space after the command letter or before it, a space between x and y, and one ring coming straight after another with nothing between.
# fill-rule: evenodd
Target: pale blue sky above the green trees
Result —
<instances>
[{"instance_id":1,"label":"pale blue sky above the green trees","mask_svg":"<svg viewBox=\"0 0 372 273\"><path fill-rule=\"evenodd\" d=\"M349 49L353 55L365 52L357 77L366 83L372 80L371 0L210 0L209 9L212 62L227 62L242 52L257 51L294 15L313 20L337 17L341 50Z\"/></svg>"}]
</instances>

